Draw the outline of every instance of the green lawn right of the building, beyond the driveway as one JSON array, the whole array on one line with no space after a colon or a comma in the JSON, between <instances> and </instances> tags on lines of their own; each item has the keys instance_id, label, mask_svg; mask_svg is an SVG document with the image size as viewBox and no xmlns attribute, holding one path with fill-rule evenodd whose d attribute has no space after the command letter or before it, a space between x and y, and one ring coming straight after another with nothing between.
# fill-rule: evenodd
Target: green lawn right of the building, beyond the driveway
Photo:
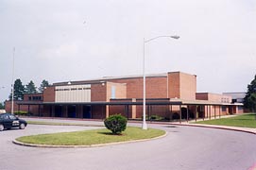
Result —
<instances>
[{"instance_id":1,"label":"green lawn right of the building, beyond the driveway","mask_svg":"<svg viewBox=\"0 0 256 170\"><path fill-rule=\"evenodd\" d=\"M230 118L200 121L200 122L196 122L196 124L256 128L256 120L255 120L254 113L242 114L242 115L238 115Z\"/></svg>"}]
</instances>

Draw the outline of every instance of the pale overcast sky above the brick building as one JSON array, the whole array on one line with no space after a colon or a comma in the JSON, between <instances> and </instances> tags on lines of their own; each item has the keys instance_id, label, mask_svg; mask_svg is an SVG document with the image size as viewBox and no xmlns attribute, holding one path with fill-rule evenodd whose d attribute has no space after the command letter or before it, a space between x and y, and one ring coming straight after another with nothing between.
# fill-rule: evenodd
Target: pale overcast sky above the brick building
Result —
<instances>
[{"instance_id":1,"label":"pale overcast sky above the brick building","mask_svg":"<svg viewBox=\"0 0 256 170\"><path fill-rule=\"evenodd\" d=\"M181 71L197 92L246 92L256 74L255 0L0 0L0 101L24 84Z\"/></svg>"}]
</instances>

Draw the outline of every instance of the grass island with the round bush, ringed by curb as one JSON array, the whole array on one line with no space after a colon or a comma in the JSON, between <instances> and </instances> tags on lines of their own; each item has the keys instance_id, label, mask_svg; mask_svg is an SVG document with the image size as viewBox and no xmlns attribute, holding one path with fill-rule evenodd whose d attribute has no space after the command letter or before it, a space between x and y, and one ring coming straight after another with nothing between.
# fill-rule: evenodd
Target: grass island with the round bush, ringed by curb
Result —
<instances>
[{"instance_id":1,"label":"grass island with the round bush, ringed by curb","mask_svg":"<svg viewBox=\"0 0 256 170\"><path fill-rule=\"evenodd\" d=\"M163 134L165 131L161 129L148 128L144 130L140 127L127 127L122 135L112 135L110 130L104 128L24 136L16 139L16 141L26 144L91 145L150 139Z\"/></svg>"}]
</instances>

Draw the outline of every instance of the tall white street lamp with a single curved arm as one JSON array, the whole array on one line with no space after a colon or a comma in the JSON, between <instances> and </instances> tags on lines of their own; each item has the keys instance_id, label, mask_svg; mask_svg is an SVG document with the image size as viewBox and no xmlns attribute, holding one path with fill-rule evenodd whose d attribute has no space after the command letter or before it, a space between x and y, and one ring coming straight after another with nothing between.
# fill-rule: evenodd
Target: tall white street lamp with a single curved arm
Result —
<instances>
[{"instance_id":1,"label":"tall white street lamp with a single curved arm","mask_svg":"<svg viewBox=\"0 0 256 170\"><path fill-rule=\"evenodd\" d=\"M147 42L151 42L151 41L154 41L156 39L159 39L159 38L172 38L172 39L176 39L178 40L179 39L179 36L175 35L175 36L158 36L158 37L154 37L152 39L148 39L148 40L145 40L144 38L144 51L143 51L143 129L147 129L147 126L146 126L146 122L145 122L145 43Z\"/></svg>"}]
</instances>

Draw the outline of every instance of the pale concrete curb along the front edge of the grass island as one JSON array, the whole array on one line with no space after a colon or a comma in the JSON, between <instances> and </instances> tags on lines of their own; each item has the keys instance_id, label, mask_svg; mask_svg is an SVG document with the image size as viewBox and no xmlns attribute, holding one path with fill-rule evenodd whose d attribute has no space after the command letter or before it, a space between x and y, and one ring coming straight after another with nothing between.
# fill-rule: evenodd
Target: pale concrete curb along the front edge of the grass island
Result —
<instances>
[{"instance_id":1,"label":"pale concrete curb along the front edge of the grass island","mask_svg":"<svg viewBox=\"0 0 256 170\"><path fill-rule=\"evenodd\" d=\"M90 148L90 147L102 147L107 145L115 145L115 144L131 144L131 143L139 143L151 140L157 140L167 136L167 131L162 136L158 136L150 139L142 139L142 140L133 140L133 141L125 141L125 142L117 142L117 143L108 143L108 144L90 144L90 145L53 145L53 144L26 144L16 140L13 140L13 144L29 146L29 147L41 147L41 148Z\"/></svg>"}]
</instances>

